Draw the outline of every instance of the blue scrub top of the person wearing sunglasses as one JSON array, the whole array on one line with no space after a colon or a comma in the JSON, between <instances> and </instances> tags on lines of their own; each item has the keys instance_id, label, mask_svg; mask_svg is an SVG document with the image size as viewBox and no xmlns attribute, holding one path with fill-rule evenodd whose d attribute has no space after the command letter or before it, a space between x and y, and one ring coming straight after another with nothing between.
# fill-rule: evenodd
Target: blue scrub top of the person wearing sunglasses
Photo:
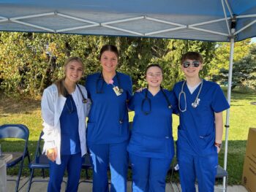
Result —
<instances>
[{"instance_id":1,"label":"blue scrub top of the person wearing sunglasses","mask_svg":"<svg viewBox=\"0 0 256 192\"><path fill-rule=\"evenodd\" d=\"M182 84L183 82L178 82L173 88L177 101ZM184 85L187 111L179 111L177 152L182 150L191 155L203 156L216 153L214 112L222 112L230 106L217 83L203 80L203 87L198 97L199 105L195 108L192 107L200 85L192 94L189 92L187 84ZM184 94L180 96L180 108L181 110L186 108Z\"/></svg>"}]
</instances>

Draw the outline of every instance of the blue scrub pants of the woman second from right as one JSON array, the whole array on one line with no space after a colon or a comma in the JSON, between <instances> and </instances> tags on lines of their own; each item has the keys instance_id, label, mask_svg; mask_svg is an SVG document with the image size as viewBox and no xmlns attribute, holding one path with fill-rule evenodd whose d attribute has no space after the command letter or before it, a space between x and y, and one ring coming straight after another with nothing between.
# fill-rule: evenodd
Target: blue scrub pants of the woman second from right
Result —
<instances>
[{"instance_id":1,"label":"blue scrub pants of the woman second from right","mask_svg":"<svg viewBox=\"0 0 256 192\"><path fill-rule=\"evenodd\" d=\"M165 177L171 158L146 158L129 153L133 192L165 192Z\"/></svg>"}]
</instances>

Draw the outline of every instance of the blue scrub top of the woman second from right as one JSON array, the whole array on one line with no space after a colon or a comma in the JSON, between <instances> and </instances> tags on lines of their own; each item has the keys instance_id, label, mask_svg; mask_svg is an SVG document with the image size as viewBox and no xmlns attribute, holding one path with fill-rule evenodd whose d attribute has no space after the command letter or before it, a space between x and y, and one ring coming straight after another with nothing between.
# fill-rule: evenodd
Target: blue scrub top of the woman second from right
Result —
<instances>
[{"instance_id":1,"label":"blue scrub top of the woman second from right","mask_svg":"<svg viewBox=\"0 0 256 192\"><path fill-rule=\"evenodd\" d=\"M145 99L146 89L135 93L129 101L129 109L135 111L132 136L127 147L129 153L148 158L173 158L172 114L176 112L176 99L173 92L163 91L171 108L168 108L162 91L155 96L148 91L151 110L148 99ZM146 115L145 112L149 114Z\"/></svg>"}]
</instances>

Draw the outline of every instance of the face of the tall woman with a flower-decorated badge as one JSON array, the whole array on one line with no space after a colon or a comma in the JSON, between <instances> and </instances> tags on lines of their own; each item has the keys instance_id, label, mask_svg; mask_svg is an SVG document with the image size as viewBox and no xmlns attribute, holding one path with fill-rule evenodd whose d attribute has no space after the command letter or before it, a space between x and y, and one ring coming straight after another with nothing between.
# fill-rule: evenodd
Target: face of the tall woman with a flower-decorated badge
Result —
<instances>
[{"instance_id":1,"label":"face of the tall woman with a flower-decorated badge","mask_svg":"<svg viewBox=\"0 0 256 192\"><path fill-rule=\"evenodd\" d=\"M102 71L104 72L115 72L118 58L116 53L106 50L100 57L100 64L102 65Z\"/></svg>"}]
</instances>

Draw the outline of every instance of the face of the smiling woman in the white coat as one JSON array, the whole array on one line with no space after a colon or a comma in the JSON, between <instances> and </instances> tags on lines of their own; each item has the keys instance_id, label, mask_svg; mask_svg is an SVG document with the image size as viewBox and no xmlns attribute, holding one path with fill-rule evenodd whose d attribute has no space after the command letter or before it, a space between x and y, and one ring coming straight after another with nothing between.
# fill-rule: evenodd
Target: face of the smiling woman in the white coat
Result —
<instances>
[{"instance_id":1,"label":"face of the smiling woman in the white coat","mask_svg":"<svg viewBox=\"0 0 256 192\"><path fill-rule=\"evenodd\" d=\"M66 82L78 82L83 75L83 65L78 61L71 61L65 66Z\"/></svg>"}]
</instances>

